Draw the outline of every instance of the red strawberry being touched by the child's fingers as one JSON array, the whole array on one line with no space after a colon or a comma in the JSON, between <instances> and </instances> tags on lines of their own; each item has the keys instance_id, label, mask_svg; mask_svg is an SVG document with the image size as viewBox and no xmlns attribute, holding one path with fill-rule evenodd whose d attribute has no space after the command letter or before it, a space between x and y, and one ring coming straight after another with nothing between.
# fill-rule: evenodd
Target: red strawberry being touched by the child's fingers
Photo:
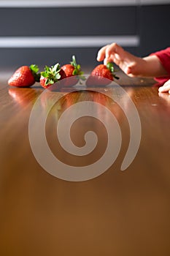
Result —
<instances>
[{"instance_id":1,"label":"red strawberry being touched by the child's fingers","mask_svg":"<svg viewBox=\"0 0 170 256\"><path fill-rule=\"evenodd\" d=\"M86 81L87 86L107 86L117 76L114 73L114 67L112 63L107 65L100 64L90 73L88 80ZM107 79L106 79L107 78Z\"/></svg>"}]
</instances>

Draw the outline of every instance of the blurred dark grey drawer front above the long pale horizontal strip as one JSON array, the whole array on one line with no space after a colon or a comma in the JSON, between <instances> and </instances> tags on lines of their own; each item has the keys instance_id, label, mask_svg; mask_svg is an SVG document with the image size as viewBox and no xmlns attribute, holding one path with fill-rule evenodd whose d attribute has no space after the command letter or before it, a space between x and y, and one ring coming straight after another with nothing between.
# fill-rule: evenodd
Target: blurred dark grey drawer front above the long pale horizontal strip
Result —
<instances>
[{"instance_id":1,"label":"blurred dark grey drawer front above the long pale horizontal strip","mask_svg":"<svg viewBox=\"0 0 170 256\"><path fill-rule=\"evenodd\" d=\"M0 8L0 36L136 34L137 7Z\"/></svg>"}]
</instances>

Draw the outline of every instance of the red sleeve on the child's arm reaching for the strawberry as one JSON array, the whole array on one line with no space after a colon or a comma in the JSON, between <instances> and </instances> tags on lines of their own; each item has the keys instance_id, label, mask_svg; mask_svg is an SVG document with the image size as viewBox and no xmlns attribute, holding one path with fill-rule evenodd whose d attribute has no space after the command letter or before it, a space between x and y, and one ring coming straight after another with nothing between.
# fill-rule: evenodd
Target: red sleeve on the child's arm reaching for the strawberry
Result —
<instances>
[{"instance_id":1,"label":"red sleeve on the child's arm reaching for the strawberry","mask_svg":"<svg viewBox=\"0 0 170 256\"><path fill-rule=\"evenodd\" d=\"M161 61L164 69L168 72L168 75L164 77L155 78L159 83L165 83L167 80L170 79L170 47L164 50L159 50L151 55L155 55Z\"/></svg>"}]
</instances>

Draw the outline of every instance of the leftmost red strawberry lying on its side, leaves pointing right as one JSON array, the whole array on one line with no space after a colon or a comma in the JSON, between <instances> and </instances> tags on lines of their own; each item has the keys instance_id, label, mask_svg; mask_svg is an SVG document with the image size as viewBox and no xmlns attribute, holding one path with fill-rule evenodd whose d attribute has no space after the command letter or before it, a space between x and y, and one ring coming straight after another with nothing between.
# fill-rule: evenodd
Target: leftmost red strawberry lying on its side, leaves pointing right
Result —
<instances>
[{"instance_id":1,"label":"leftmost red strawberry lying on its side, leaves pointing right","mask_svg":"<svg viewBox=\"0 0 170 256\"><path fill-rule=\"evenodd\" d=\"M36 74L39 68L36 65L22 66L15 71L8 80L9 86L30 87L35 82L39 82L40 74Z\"/></svg>"}]
</instances>

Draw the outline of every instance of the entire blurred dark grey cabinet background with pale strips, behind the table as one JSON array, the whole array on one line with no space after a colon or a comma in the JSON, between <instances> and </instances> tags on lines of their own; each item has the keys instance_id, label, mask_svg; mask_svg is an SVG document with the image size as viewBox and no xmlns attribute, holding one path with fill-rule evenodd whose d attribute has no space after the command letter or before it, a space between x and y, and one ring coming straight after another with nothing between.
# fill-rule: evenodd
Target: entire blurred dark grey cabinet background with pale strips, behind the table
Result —
<instances>
[{"instance_id":1,"label":"entire blurred dark grey cabinet background with pale strips, behind the table","mask_svg":"<svg viewBox=\"0 0 170 256\"><path fill-rule=\"evenodd\" d=\"M0 68L97 64L117 42L137 56L170 45L170 0L0 0Z\"/></svg>"}]
</instances>

